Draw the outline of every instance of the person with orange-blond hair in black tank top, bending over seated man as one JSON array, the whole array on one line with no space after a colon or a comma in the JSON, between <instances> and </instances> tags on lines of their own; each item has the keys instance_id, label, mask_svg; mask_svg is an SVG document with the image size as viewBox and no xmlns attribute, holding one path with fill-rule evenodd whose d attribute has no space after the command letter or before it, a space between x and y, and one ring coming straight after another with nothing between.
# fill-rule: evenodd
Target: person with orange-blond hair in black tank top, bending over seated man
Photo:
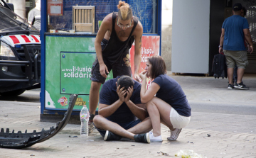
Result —
<instances>
[{"instance_id":1,"label":"person with orange-blond hair in black tank top, bending over seated man","mask_svg":"<svg viewBox=\"0 0 256 158\"><path fill-rule=\"evenodd\" d=\"M90 87L90 120L89 127L92 131L92 120L95 115L99 100L101 84L104 84L107 74L112 70L113 78L117 76L132 76L129 64L129 49L135 40L134 53L134 79L139 79L139 64L141 61L143 27L138 18L132 15L129 4L119 1L118 13L108 14L95 38L96 59L92 64L92 83Z\"/></svg>"}]
</instances>

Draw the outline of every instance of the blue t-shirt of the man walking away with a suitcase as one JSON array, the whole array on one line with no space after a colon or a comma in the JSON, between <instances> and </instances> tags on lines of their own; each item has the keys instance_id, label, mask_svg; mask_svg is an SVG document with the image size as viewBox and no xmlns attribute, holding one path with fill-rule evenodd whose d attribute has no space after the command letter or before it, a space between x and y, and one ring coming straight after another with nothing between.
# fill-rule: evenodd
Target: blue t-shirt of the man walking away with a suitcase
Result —
<instances>
[{"instance_id":1,"label":"blue t-shirt of the man walking away with a suitcase","mask_svg":"<svg viewBox=\"0 0 256 158\"><path fill-rule=\"evenodd\" d=\"M249 28L248 21L242 16L233 15L225 19L222 28L225 30L223 50L246 50L243 29Z\"/></svg>"}]
</instances>

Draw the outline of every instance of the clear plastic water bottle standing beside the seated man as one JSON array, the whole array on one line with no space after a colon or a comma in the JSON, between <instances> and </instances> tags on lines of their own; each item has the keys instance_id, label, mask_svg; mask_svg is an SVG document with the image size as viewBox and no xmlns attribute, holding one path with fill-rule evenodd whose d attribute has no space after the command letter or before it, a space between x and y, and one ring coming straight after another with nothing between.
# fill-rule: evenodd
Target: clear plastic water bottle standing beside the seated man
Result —
<instances>
[{"instance_id":1,"label":"clear plastic water bottle standing beside the seated man","mask_svg":"<svg viewBox=\"0 0 256 158\"><path fill-rule=\"evenodd\" d=\"M88 121L89 121L90 113L86 106L82 107L80 112L80 120L81 120L81 135L88 136Z\"/></svg>"}]
</instances>

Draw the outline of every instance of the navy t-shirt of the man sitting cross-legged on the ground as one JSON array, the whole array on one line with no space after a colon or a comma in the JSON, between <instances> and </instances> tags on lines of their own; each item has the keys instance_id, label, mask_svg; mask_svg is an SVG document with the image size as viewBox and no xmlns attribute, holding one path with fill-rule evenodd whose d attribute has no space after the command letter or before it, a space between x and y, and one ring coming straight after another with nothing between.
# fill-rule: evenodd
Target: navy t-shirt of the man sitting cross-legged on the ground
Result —
<instances>
[{"instance_id":1,"label":"navy t-shirt of the man sitting cross-legged on the ground","mask_svg":"<svg viewBox=\"0 0 256 158\"><path fill-rule=\"evenodd\" d=\"M116 86L118 78L119 77L110 79L102 85L102 89L100 90L100 103L111 105L119 99ZM134 104L142 103L140 99L140 89L141 84L139 84L138 81L134 81L134 91L130 98L130 101ZM126 103L122 103L122 105L117 108L117 111L107 117L107 119L114 123L129 123L133 120L137 120L137 117L132 113Z\"/></svg>"}]
</instances>

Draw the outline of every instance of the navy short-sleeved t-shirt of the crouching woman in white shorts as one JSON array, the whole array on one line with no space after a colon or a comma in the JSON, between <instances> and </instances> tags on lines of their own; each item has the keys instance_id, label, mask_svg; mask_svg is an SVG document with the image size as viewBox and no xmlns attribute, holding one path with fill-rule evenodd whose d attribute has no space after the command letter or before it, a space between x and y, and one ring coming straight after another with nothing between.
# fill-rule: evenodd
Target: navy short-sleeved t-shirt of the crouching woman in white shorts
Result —
<instances>
[{"instance_id":1,"label":"navy short-sleeved t-shirt of the crouching woman in white shorts","mask_svg":"<svg viewBox=\"0 0 256 158\"><path fill-rule=\"evenodd\" d=\"M160 86L156 93L157 98L169 103L179 115L191 116L191 107L181 85L166 74L161 74L153 81Z\"/></svg>"}]
</instances>

